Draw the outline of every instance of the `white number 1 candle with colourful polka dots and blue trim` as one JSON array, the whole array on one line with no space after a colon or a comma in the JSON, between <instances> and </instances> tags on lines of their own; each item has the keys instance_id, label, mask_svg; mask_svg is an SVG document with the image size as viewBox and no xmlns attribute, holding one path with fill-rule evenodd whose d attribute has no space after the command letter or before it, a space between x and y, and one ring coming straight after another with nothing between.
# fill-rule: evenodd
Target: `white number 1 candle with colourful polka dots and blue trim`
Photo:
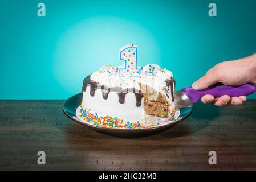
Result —
<instances>
[{"instance_id":1,"label":"white number 1 candle with colourful polka dots and blue trim","mask_svg":"<svg viewBox=\"0 0 256 182\"><path fill-rule=\"evenodd\" d=\"M140 76L140 67L137 66L137 49L136 45L128 44L119 50L120 60L124 61L124 65L119 66L119 76Z\"/></svg>"}]
</instances>

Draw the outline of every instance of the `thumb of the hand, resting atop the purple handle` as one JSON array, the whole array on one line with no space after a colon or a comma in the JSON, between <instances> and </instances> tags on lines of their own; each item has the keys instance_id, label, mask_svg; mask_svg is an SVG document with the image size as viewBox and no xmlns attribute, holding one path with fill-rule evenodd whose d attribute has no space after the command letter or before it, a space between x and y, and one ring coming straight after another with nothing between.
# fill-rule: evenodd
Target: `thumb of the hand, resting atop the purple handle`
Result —
<instances>
[{"instance_id":1,"label":"thumb of the hand, resting atop the purple handle","mask_svg":"<svg viewBox=\"0 0 256 182\"><path fill-rule=\"evenodd\" d=\"M215 76L206 74L205 76L201 77L199 80L192 84L192 88L195 90L203 90L208 88L209 86L216 84L218 82Z\"/></svg>"}]
</instances>

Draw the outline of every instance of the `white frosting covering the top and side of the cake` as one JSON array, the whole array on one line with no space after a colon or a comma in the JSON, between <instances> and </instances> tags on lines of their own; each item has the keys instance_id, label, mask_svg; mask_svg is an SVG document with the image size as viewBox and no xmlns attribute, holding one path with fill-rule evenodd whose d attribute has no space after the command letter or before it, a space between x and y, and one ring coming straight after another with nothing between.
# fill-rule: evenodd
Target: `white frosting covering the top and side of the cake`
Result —
<instances>
[{"instance_id":1,"label":"white frosting covering the top and side of the cake","mask_svg":"<svg viewBox=\"0 0 256 182\"><path fill-rule=\"evenodd\" d=\"M149 67L155 67L149 72ZM115 69L115 72L113 70ZM147 72L148 71L148 72ZM159 90L161 93L165 93L166 89L166 79L172 77L172 72L167 69L161 69L159 65L151 64L151 66L146 65L142 69L140 77L119 77L118 70L113 67L106 65L100 68L100 71L94 72L91 75L91 80L98 82L99 85L105 85L108 88L121 87L121 89L135 88L140 90L139 83L147 84L155 90ZM124 121L130 122L145 122L143 99L141 100L141 105L136 106L135 94L129 92L125 95L125 102L120 104L119 96L116 92L110 92L108 98L105 100L102 96L102 90L96 89L95 95L91 96L90 88L83 92L82 104L91 109L91 112L95 112L98 115L111 115L113 117L118 117L124 119ZM174 107L172 102L171 90L169 90L169 102L171 106L170 110ZM166 118L153 117L152 121L162 121Z\"/></svg>"}]
</instances>

